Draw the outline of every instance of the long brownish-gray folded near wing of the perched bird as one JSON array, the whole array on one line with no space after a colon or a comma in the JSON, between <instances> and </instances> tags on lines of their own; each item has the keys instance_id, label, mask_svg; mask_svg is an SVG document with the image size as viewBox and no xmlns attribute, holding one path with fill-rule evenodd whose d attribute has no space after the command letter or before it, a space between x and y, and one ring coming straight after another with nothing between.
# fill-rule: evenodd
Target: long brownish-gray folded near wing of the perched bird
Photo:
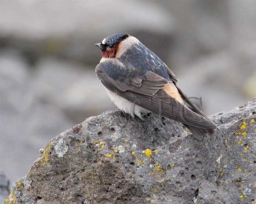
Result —
<instances>
[{"instance_id":1,"label":"long brownish-gray folded near wing of the perched bird","mask_svg":"<svg viewBox=\"0 0 256 204\"><path fill-rule=\"evenodd\" d=\"M205 118L204 114L200 114L200 111L198 113L191 111L191 109L178 102L175 98L170 97L164 91L164 87L170 82L167 79L149 71L145 75L136 75L131 79L127 77L126 79L116 80L108 75L106 66L109 67L111 65L106 65L106 63L97 65L96 74L108 90L134 102L138 106L186 125L216 129L216 125L207 117ZM113 69L117 69L117 67L113 67Z\"/></svg>"}]
</instances>

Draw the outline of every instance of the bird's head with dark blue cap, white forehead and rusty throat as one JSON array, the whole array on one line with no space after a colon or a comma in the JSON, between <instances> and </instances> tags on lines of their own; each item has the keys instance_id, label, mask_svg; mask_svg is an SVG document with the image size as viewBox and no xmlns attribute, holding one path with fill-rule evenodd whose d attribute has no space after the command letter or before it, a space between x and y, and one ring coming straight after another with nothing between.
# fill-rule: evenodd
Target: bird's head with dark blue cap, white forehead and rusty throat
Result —
<instances>
[{"instance_id":1,"label":"bird's head with dark blue cap, white forehead and rusty throat","mask_svg":"<svg viewBox=\"0 0 256 204\"><path fill-rule=\"evenodd\" d=\"M96 43L95 45L100 48L102 58L115 58L120 43L128 37L127 33L115 33L107 36L101 43Z\"/></svg>"}]
</instances>

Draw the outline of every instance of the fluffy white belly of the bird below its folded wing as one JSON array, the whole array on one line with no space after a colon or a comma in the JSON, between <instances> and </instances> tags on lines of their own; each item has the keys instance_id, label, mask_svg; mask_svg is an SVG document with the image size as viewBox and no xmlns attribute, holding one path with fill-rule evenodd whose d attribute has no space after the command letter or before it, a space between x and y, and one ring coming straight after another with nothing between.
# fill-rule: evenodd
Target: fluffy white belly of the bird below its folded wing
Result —
<instances>
[{"instance_id":1,"label":"fluffy white belly of the bird below its folded wing","mask_svg":"<svg viewBox=\"0 0 256 204\"><path fill-rule=\"evenodd\" d=\"M136 104L134 104L133 102L118 96L116 93L109 91L106 88L106 91L109 95L109 97L111 98L111 100L113 101L113 103L122 111L124 111L125 113L129 113L131 114L132 117L134 117L134 114L136 116L138 116L139 118L142 119L141 113L149 113L150 111L148 111L147 109L145 109L144 107L138 106Z\"/></svg>"}]
</instances>

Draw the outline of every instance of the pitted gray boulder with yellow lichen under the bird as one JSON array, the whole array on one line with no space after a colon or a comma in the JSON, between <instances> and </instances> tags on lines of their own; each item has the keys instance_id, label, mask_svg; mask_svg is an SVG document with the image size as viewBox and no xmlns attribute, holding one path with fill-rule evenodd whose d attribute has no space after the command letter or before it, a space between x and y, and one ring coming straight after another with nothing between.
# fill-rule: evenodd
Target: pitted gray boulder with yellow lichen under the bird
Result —
<instances>
[{"instance_id":1,"label":"pitted gray boulder with yellow lichen under the bird","mask_svg":"<svg viewBox=\"0 0 256 204\"><path fill-rule=\"evenodd\" d=\"M256 99L212 116L196 140L177 122L120 111L47 143L4 203L255 203Z\"/></svg>"}]
</instances>

